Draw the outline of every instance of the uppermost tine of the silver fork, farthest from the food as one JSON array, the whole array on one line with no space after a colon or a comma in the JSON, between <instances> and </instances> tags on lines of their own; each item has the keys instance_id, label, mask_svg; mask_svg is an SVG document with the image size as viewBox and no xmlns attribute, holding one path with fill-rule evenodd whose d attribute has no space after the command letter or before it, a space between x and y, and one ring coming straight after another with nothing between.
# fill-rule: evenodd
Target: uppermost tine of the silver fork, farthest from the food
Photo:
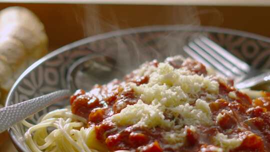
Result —
<instances>
[{"instance_id":1,"label":"uppermost tine of the silver fork, farthest from the food","mask_svg":"<svg viewBox=\"0 0 270 152\"><path fill-rule=\"evenodd\" d=\"M205 44L207 44L212 50L216 51L220 54L220 56L223 56L224 59L232 63L235 67L237 67L240 70L243 70L245 73L247 73L250 70L250 66L246 64L245 62L241 61L231 53L229 53L227 50L210 40L209 38L205 36L200 36L199 39L203 41ZM236 63L236 64L235 64Z\"/></svg>"}]
</instances>

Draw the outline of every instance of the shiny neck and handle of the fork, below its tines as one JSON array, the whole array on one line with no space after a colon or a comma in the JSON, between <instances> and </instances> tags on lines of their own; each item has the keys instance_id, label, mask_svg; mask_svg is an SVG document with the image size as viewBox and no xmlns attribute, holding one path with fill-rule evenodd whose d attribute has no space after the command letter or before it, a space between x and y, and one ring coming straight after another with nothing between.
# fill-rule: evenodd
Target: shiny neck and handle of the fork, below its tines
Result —
<instances>
[{"instance_id":1,"label":"shiny neck and handle of the fork, below its tines","mask_svg":"<svg viewBox=\"0 0 270 152\"><path fill-rule=\"evenodd\" d=\"M238 89L242 89L242 88L247 88L247 87L252 87L255 86L257 84L262 84L265 82L270 81L270 72L263 72L257 76L253 76L250 78L247 78L243 81L240 81L239 83L236 83L234 86Z\"/></svg>"}]
</instances>

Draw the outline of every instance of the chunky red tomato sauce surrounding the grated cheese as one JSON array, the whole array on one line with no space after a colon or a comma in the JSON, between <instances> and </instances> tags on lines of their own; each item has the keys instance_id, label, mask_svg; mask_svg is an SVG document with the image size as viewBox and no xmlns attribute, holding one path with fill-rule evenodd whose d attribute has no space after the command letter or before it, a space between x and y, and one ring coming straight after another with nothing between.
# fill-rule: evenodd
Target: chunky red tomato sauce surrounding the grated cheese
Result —
<instances>
[{"instance_id":1,"label":"chunky red tomato sauce surrounding the grated cheese","mask_svg":"<svg viewBox=\"0 0 270 152\"><path fill-rule=\"evenodd\" d=\"M149 65L157 66L156 60ZM194 60L185 60L180 65L170 62L175 68L186 68L196 74L207 74L206 68ZM196 132L186 130L184 145L175 146L165 141L161 134L169 131L160 127L143 128L116 126L109 116L119 113L127 105L135 104L138 97L131 88L123 88L124 83L134 82L140 85L148 82L147 76L136 76L130 73L124 81L113 80L106 85L95 85L85 92L77 90L70 97L71 110L88 120L87 126L93 126L96 138L105 143L110 151L130 150L144 152L161 151L200 151L212 152L218 146L214 145L212 137L217 132L229 137L242 138L240 146L230 151L269 151L270 150L270 97L264 96L255 100L232 87L233 83L219 82L217 99L209 102L214 123L212 126L198 126ZM236 98L228 93L234 91ZM223 116L217 121L216 116ZM230 130L230 131L228 131Z\"/></svg>"}]
</instances>

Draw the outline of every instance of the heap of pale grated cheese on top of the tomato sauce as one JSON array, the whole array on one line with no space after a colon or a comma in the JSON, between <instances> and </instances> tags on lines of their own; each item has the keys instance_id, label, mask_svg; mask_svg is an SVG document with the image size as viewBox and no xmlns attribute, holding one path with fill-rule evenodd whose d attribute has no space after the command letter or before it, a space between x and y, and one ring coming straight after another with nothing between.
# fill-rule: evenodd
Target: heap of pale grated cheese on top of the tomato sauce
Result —
<instances>
[{"instance_id":1,"label":"heap of pale grated cheese on top of the tomato sauce","mask_svg":"<svg viewBox=\"0 0 270 152\"><path fill-rule=\"evenodd\" d=\"M195 131L197 125L214 123L206 100L216 98L219 84L211 76L193 74L184 68L174 69L168 63L159 63L157 67L144 65L135 72L148 74L149 81L140 85L127 83L140 99L112 115L110 118L115 124L169 128L171 131L163 132L163 139L179 147L185 142L186 128ZM163 113L170 119L165 119ZM230 140L218 141L223 146Z\"/></svg>"}]
</instances>

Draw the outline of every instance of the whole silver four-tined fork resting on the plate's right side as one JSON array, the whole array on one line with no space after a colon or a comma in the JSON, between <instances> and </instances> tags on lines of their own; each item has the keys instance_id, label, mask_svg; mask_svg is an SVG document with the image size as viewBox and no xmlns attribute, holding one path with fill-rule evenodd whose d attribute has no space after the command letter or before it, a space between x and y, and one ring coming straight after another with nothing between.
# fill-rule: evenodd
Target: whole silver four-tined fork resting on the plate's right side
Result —
<instances>
[{"instance_id":1,"label":"whole silver four-tined fork resting on the plate's right side","mask_svg":"<svg viewBox=\"0 0 270 152\"><path fill-rule=\"evenodd\" d=\"M234 79L238 89L252 87L270 80L270 72L260 72L205 36L198 36L183 50L219 74Z\"/></svg>"}]
</instances>

